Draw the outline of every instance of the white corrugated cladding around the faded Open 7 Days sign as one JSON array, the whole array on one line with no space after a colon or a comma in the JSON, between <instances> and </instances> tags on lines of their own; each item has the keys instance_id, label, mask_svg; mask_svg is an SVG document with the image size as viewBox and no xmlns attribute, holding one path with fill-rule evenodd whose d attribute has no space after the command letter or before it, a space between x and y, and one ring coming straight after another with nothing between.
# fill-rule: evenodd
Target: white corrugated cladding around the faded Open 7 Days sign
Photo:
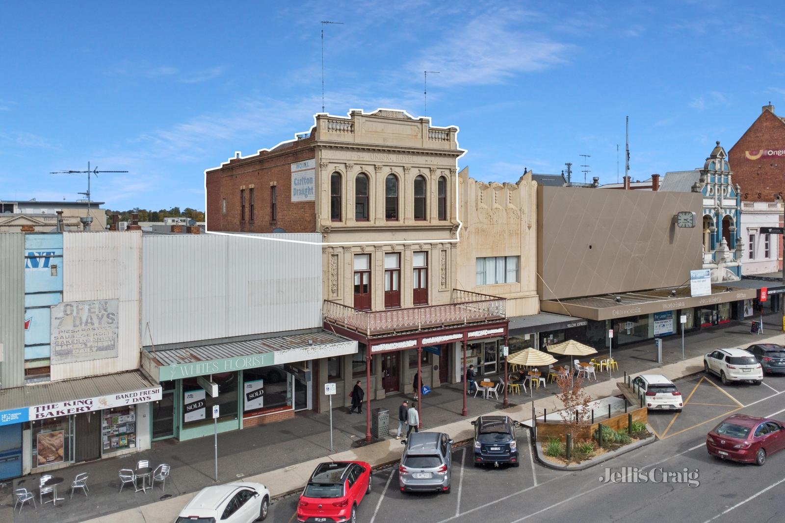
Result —
<instances>
[{"instance_id":1,"label":"white corrugated cladding around the faded Open 7 Days sign","mask_svg":"<svg viewBox=\"0 0 785 523\"><path fill-rule=\"evenodd\" d=\"M53 381L139 368L141 247L141 231L63 233L63 301L118 300L118 355L51 365Z\"/></svg>"}]
</instances>

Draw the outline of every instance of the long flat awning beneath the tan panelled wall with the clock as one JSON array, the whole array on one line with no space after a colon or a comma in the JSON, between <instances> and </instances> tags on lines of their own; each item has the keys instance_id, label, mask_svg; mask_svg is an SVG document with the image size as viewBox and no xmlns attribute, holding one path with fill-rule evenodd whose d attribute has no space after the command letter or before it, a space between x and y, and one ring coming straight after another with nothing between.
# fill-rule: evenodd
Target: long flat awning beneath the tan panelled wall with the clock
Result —
<instances>
[{"instance_id":1,"label":"long flat awning beneath the tan panelled wall with the clock","mask_svg":"<svg viewBox=\"0 0 785 523\"><path fill-rule=\"evenodd\" d=\"M690 307L709 307L716 303L737 300L752 300L758 289L741 289L728 285L712 285L707 296L690 296L689 287L674 289L650 289L636 292L619 292L571 300L546 300L540 302L543 311L564 313L589 320L612 320L639 314L676 311Z\"/></svg>"}]
</instances>

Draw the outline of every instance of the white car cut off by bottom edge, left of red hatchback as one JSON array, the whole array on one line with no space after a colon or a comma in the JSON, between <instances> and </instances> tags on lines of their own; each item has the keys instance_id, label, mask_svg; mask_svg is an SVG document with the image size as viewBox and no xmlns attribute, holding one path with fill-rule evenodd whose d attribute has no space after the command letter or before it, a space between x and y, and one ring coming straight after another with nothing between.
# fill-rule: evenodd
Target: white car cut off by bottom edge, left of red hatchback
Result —
<instances>
[{"instance_id":1,"label":"white car cut off by bottom edge, left of red hatchback","mask_svg":"<svg viewBox=\"0 0 785 523\"><path fill-rule=\"evenodd\" d=\"M270 491L261 483L205 487L180 511L176 523L250 523L267 518Z\"/></svg>"}]
</instances>

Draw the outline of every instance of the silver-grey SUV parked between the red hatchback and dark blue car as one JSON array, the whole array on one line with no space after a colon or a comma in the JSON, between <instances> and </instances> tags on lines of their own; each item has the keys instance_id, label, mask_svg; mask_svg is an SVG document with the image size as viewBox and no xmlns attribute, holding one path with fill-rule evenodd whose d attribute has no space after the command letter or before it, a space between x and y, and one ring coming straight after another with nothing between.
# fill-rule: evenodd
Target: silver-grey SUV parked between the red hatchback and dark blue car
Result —
<instances>
[{"instance_id":1,"label":"silver-grey SUV parked between the red hatchback and dark blue car","mask_svg":"<svg viewBox=\"0 0 785 523\"><path fill-rule=\"evenodd\" d=\"M398 467L400 492L450 492L452 440L443 432L414 432L401 441L406 445Z\"/></svg>"}]
</instances>

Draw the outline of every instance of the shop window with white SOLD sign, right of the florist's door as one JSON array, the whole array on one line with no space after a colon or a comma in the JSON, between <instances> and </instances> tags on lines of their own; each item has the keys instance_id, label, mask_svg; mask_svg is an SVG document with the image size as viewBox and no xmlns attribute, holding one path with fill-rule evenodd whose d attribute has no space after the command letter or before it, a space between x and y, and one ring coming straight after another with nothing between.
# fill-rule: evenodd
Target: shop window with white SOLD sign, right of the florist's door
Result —
<instances>
[{"instance_id":1,"label":"shop window with white SOLD sign, right of the florist's door","mask_svg":"<svg viewBox=\"0 0 785 523\"><path fill-rule=\"evenodd\" d=\"M283 365L243 371L243 417L293 409L293 376Z\"/></svg>"}]
</instances>

